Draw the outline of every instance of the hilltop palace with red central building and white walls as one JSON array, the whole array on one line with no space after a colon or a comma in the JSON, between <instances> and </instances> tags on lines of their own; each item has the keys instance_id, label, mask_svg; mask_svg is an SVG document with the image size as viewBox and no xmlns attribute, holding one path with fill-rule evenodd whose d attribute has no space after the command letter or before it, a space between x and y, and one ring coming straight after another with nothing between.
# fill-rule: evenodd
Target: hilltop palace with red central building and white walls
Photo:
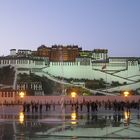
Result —
<instances>
[{"instance_id":1,"label":"hilltop palace with red central building and white walls","mask_svg":"<svg viewBox=\"0 0 140 140\"><path fill-rule=\"evenodd\" d=\"M0 57L0 67L8 65L15 68L15 77L34 73L64 84L68 83L63 78L103 79L108 84L122 84L104 89L108 92L140 89L140 57L109 57L106 49L83 51L78 46L61 45L42 45L37 51L11 49L8 56Z\"/></svg>"}]
</instances>

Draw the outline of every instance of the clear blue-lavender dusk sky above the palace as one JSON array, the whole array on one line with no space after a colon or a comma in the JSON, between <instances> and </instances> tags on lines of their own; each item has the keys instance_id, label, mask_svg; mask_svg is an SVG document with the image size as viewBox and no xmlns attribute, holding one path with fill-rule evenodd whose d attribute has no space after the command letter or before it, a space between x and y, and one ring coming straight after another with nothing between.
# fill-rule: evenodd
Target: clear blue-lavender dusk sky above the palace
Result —
<instances>
[{"instance_id":1,"label":"clear blue-lavender dusk sky above the palace","mask_svg":"<svg viewBox=\"0 0 140 140\"><path fill-rule=\"evenodd\" d=\"M0 0L0 55L42 44L140 56L140 0Z\"/></svg>"}]
</instances>

